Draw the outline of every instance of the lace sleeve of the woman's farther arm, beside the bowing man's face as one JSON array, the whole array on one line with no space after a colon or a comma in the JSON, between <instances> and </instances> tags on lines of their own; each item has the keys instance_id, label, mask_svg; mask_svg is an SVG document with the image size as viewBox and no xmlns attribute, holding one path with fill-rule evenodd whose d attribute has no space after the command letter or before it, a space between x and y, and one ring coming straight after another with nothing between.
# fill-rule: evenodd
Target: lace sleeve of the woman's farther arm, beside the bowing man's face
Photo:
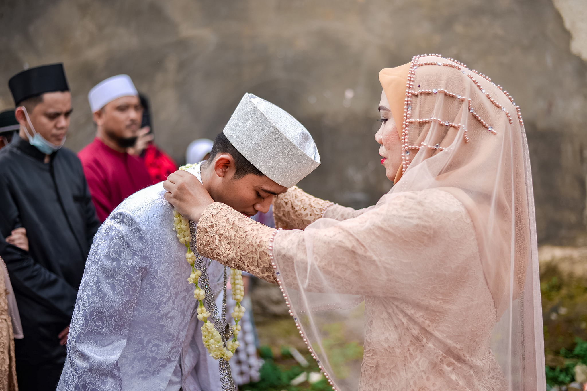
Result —
<instances>
[{"instance_id":1,"label":"lace sleeve of the woman's farther arm, beside the bowing man's face","mask_svg":"<svg viewBox=\"0 0 587 391\"><path fill-rule=\"evenodd\" d=\"M322 214L333 202L311 196L298 186L280 194L273 205L275 226L283 229L304 229Z\"/></svg>"}]
</instances>

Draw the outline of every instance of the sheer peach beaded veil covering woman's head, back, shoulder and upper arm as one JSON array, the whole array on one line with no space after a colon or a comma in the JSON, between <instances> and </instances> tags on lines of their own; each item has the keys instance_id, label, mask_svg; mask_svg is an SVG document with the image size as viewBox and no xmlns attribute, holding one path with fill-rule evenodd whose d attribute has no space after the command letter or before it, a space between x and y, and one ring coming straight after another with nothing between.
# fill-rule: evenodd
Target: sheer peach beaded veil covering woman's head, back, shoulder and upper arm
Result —
<instances>
[{"instance_id":1,"label":"sheer peach beaded veil covering woman's head, back, shoulder and upper arm","mask_svg":"<svg viewBox=\"0 0 587 391\"><path fill-rule=\"evenodd\" d=\"M418 383L424 388L438 387L435 378L443 378L440 389L475 382L477 375L488 380L495 367L476 355L483 349L490 349L489 361L507 386L463 389L544 390L534 196L518 107L488 77L438 55L415 56L382 70L379 79L403 145L393 188L356 218L337 221L342 219L327 210L330 218L306 227L303 238L287 231L275 236L276 273L309 351L337 390L394 389L394 382L410 376L430 379ZM430 236L434 224L454 218L450 213L431 220L421 210L401 208L402 200L430 189L449 193L468 212L474 237L464 239L463 249ZM467 249L474 255L462 256ZM451 269L451 259L465 259L458 268L481 263L473 265L483 281L474 294L461 293L471 276ZM449 272L457 274L446 277ZM438 297L426 293L435 289ZM442 295L464 300L452 319L439 315L447 305ZM482 296L494 315L468 318L465 307ZM386 307L393 307L393 316L384 318ZM405 357L379 349L403 343L409 333L418 342L398 349ZM370 371L377 368L387 378L372 380ZM470 375L463 375L467 370Z\"/></svg>"}]
</instances>

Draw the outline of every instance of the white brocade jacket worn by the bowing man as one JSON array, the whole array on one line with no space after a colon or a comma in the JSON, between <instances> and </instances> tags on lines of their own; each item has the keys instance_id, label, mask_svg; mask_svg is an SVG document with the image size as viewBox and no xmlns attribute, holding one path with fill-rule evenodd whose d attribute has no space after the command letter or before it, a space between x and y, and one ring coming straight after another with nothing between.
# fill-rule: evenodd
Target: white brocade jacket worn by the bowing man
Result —
<instances>
[{"instance_id":1,"label":"white brocade jacket worn by the bowing man","mask_svg":"<svg viewBox=\"0 0 587 391\"><path fill-rule=\"evenodd\" d=\"M190 171L199 176L199 166ZM198 178L199 179L199 178ZM220 390L186 248L162 183L124 200L97 232L70 324L58 390ZM212 290L224 267L208 260Z\"/></svg>"}]
</instances>

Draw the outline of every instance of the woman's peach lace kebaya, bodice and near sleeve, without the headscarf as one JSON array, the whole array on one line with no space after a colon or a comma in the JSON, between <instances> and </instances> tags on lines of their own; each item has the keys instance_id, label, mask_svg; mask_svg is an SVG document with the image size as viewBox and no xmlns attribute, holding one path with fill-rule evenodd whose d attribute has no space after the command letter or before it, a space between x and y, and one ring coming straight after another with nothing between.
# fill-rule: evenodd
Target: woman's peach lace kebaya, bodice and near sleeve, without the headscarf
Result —
<instances>
[{"instance_id":1,"label":"woman's peach lace kebaya, bodice and near sleeve, without the headscarf","mask_svg":"<svg viewBox=\"0 0 587 391\"><path fill-rule=\"evenodd\" d=\"M336 287L365 297L359 390L507 389L490 349L497 314L464 206L433 189L401 193L371 210L333 206L328 213L345 221L329 227L315 222L305 232L282 231L274 243L275 263L290 297L294 291L316 294L326 288L336 292ZM316 212L305 215L305 221L310 215ZM267 249L274 232L214 203L200 220L198 250L268 279L273 271ZM389 248L366 251L363 241L373 242L373 237L387 237ZM312 300L291 302L296 308L296 302ZM316 336L308 338L313 346L319 343Z\"/></svg>"}]
</instances>

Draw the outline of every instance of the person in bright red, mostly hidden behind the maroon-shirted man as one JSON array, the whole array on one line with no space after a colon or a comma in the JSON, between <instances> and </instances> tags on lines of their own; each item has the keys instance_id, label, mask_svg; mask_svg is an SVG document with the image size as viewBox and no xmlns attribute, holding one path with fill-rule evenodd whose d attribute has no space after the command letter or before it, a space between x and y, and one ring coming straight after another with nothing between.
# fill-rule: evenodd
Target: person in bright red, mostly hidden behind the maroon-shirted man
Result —
<instances>
[{"instance_id":1,"label":"person in bright red, mostly hidden behind the maroon-shirted man","mask_svg":"<svg viewBox=\"0 0 587 391\"><path fill-rule=\"evenodd\" d=\"M143 120L141 130L134 147L128 149L129 154L139 156L144 160L147 171L151 175L153 185L165 181L167 176L177 169L176 162L171 159L163 149L153 142L153 125L151 124L151 110L149 99L144 94L139 94L141 106L143 106Z\"/></svg>"}]
</instances>

